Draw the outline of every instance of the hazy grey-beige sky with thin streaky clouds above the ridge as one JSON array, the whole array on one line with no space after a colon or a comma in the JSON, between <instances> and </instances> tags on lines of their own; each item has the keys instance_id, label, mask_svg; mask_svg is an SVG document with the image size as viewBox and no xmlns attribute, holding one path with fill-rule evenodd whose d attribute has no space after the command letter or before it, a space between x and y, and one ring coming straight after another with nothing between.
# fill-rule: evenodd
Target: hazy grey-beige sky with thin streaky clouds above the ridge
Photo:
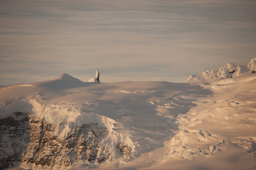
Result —
<instances>
[{"instance_id":1,"label":"hazy grey-beige sky with thin streaky clouds above the ridge","mask_svg":"<svg viewBox=\"0 0 256 170\"><path fill-rule=\"evenodd\" d=\"M255 0L0 1L0 85L184 82L256 57Z\"/></svg>"}]
</instances>

